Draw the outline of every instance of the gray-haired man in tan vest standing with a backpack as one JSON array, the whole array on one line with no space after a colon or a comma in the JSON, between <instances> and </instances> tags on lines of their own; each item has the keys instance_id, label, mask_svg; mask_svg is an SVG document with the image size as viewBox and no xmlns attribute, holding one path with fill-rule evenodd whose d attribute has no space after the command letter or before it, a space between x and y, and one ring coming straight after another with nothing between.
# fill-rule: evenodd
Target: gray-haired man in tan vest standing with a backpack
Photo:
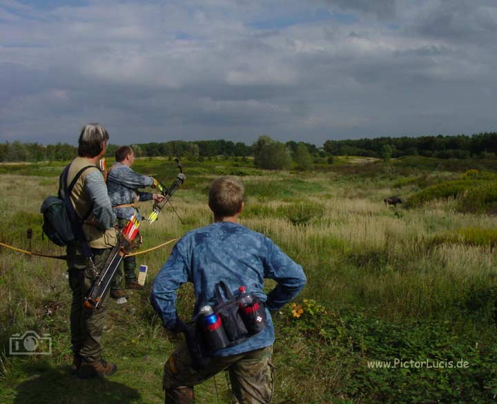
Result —
<instances>
[{"instance_id":1,"label":"gray-haired man in tan vest standing with a backpack","mask_svg":"<svg viewBox=\"0 0 497 404\"><path fill-rule=\"evenodd\" d=\"M70 202L84 233L84 240L70 242L67 246L69 286L72 291L71 370L79 378L98 374L110 376L117 369L115 364L101 358L106 306L101 304L98 309L84 307L84 298L88 296L117 242L113 227L116 217L104 177L97 167L106 153L108 140L108 133L101 124L85 125L79 135L78 157L70 163L66 184L61 182L61 192L72 185Z\"/></svg>"}]
</instances>

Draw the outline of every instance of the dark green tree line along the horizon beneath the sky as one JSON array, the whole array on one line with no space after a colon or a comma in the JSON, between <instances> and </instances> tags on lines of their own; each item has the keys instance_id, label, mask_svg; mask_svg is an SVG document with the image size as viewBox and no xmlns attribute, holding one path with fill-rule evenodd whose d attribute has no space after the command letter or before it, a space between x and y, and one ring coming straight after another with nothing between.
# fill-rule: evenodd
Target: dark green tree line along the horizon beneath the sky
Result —
<instances>
[{"instance_id":1,"label":"dark green tree line along the horizon beneath the sky","mask_svg":"<svg viewBox=\"0 0 497 404\"><path fill-rule=\"evenodd\" d=\"M264 169L295 167L309 169L315 162L333 162L336 155L391 157L422 155L425 157L465 159L488 157L497 153L497 133L485 132L471 136L376 137L358 140L327 140L322 148L306 142L277 142L262 135L251 146L231 140L199 140L137 143L130 145L137 157L166 156L198 158L253 156L255 166ZM107 156L112 158L118 145L109 144ZM77 148L67 143L0 143L0 162L40 162L71 160Z\"/></svg>"}]
</instances>

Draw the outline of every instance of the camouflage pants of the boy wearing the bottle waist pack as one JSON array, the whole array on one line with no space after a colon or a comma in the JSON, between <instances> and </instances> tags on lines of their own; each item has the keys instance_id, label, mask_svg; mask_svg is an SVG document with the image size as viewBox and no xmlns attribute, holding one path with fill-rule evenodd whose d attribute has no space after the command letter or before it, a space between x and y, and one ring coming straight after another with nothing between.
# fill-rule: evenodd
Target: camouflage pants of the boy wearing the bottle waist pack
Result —
<instances>
[{"instance_id":1,"label":"camouflage pants of the boy wearing the bottle waist pack","mask_svg":"<svg viewBox=\"0 0 497 404\"><path fill-rule=\"evenodd\" d=\"M166 404L195 403L193 386L228 370L231 389L239 404L266 404L273 396L273 347L232 356L217 356L201 371L191 368L186 344L180 345L164 365L163 389Z\"/></svg>"}]
</instances>

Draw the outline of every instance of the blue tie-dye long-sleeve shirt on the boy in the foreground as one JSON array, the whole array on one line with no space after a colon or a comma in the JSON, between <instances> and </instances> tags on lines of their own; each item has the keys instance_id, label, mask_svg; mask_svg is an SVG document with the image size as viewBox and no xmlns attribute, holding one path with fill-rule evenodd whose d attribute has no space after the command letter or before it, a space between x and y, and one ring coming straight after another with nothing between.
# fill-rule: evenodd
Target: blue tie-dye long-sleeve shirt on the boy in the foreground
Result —
<instances>
[{"instance_id":1,"label":"blue tie-dye long-sleeve shirt on the boy in the foreground","mask_svg":"<svg viewBox=\"0 0 497 404\"><path fill-rule=\"evenodd\" d=\"M267 296L264 278L277 281ZM215 352L215 356L228 356L273 345L274 327L269 310L280 309L297 296L306 276L299 264L263 234L242 224L215 222L186 233L153 282L150 300L164 327L175 327L176 290L180 285L192 282L195 287L195 316L200 307L216 304L214 286L220 280L233 293L244 285L246 291L265 301L268 319L268 326L259 334Z\"/></svg>"}]
</instances>

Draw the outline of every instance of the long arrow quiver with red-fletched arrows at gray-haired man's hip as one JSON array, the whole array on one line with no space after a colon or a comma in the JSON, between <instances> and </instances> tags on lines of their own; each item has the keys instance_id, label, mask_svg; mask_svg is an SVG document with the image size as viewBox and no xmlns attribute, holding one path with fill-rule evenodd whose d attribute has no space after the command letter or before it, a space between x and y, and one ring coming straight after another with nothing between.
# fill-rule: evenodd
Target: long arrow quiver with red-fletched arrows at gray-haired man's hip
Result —
<instances>
[{"instance_id":1,"label":"long arrow quiver with red-fletched arrows at gray-haired man's hip","mask_svg":"<svg viewBox=\"0 0 497 404\"><path fill-rule=\"evenodd\" d=\"M130 224L133 224L133 221L134 218L130 220ZM136 225L132 225L132 227L135 227L137 229L137 227L139 227L139 224L137 227ZM137 234L137 231L131 230L132 227L126 226L126 228L121 233L119 233L119 242L113 247L104 265L104 269L99 274L97 280L95 280L95 283L90 289L90 293L85 298L84 307L88 309L99 308L108 292L110 284L112 283L114 275L119 268L119 264L121 264L122 259L127 256L130 251L136 249L137 247L139 247L139 244L141 244L141 238L139 238L137 242L133 241ZM126 232L126 229L128 229L128 232Z\"/></svg>"}]
</instances>

